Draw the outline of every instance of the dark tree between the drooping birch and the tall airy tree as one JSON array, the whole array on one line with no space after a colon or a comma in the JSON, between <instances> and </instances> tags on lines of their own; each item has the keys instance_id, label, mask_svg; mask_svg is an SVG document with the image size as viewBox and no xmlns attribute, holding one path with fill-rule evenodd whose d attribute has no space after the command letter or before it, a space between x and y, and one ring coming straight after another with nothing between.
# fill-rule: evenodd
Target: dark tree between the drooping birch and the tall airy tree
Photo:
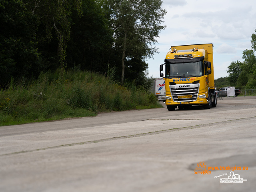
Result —
<instances>
[{"instance_id":1,"label":"dark tree between the drooping birch and the tall airy tree","mask_svg":"<svg viewBox=\"0 0 256 192\"><path fill-rule=\"evenodd\" d=\"M74 11L70 41L67 48L69 67L79 65L81 70L106 72L113 43L113 32L101 2L83 0L82 16Z\"/></svg>"}]
</instances>

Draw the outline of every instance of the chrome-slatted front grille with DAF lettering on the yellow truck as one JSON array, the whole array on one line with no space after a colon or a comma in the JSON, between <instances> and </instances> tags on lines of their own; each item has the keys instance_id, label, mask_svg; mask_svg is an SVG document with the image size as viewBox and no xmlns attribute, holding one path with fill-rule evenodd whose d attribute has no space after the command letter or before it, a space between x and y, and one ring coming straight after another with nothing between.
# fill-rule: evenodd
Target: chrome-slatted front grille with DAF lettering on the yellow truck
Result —
<instances>
[{"instance_id":1,"label":"chrome-slatted front grille with DAF lettering on the yellow truck","mask_svg":"<svg viewBox=\"0 0 256 192\"><path fill-rule=\"evenodd\" d=\"M197 100L200 84L176 84L170 85L170 91L174 102L193 102ZM192 96L192 98L178 98L178 96Z\"/></svg>"}]
</instances>

